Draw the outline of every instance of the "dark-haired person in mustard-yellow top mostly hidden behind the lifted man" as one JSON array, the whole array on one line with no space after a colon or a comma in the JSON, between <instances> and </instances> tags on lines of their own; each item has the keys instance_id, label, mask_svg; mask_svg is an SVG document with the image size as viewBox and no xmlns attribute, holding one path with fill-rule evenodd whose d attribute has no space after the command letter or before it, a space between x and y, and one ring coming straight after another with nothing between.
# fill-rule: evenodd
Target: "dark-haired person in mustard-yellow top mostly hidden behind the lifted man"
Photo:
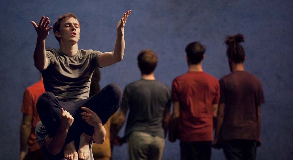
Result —
<instances>
[{"instance_id":1,"label":"dark-haired person in mustard-yellow top mostly hidden behind the lifted man","mask_svg":"<svg viewBox=\"0 0 293 160\"><path fill-rule=\"evenodd\" d=\"M91 90L89 96L93 96L100 91L100 70L96 68L91 79ZM114 113L107 123L104 125L106 130L106 137L103 144L93 143L93 158L95 160L110 160L112 159L112 149L114 139L117 137L119 129L117 124L120 122L118 113Z\"/></svg>"}]
</instances>

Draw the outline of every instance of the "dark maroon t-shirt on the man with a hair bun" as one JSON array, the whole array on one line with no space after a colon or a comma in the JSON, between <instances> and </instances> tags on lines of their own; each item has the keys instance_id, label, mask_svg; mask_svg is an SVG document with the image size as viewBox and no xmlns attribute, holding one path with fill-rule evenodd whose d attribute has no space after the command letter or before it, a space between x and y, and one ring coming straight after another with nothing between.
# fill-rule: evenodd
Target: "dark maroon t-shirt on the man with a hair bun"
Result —
<instances>
[{"instance_id":1,"label":"dark maroon t-shirt on the man with a hair bun","mask_svg":"<svg viewBox=\"0 0 293 160\"><path fill-rule=\"evenodd\" d=\"M225 110L218 142L247 139L260 144L257 106L265 100L259 79L245 71L234 71L219 83L220 103L225 103Z\"/></svg>"}]
</instances>

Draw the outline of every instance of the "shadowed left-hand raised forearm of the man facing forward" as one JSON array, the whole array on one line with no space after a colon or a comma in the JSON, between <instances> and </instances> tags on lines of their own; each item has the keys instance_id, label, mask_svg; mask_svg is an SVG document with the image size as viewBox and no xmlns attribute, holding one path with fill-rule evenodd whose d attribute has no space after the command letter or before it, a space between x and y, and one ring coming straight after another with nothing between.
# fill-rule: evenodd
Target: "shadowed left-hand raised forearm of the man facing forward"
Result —
<instances>
[{"instance_id":1,"label":"shadowed left-hand raised forearm of the man facing forward","mask_svg":"<svg viewBox=\"0 0 293 160\"><path fill-rule=\"evenodd\" d=\"M45 49L45 40L37 39L35 52L34 52L34 61L35 67L42 71L46 68L46 49Z\"/></svg>"}]
</instances>

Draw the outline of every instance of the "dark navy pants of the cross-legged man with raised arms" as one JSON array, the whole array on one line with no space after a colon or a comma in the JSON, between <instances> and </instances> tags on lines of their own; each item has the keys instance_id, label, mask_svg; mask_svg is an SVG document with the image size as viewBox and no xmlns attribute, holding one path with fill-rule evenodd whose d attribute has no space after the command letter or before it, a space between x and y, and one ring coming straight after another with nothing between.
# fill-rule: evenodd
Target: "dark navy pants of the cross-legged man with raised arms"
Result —
<instances>
[{"instance_id":1,"label":"dark navy pants of the cross-legged man with raised arms","mask_svg":"<svg viewBox=\"0 0 293 160\"><path fill-rule=\"evenodd\" d=\"M82 132L90 136L93 135L94 127L81 118L80 114L86 112L81 107L87 107L94 111L104 125L120 107L122 97L123 92L116 84L108 84L94 96L77 102L58 101L53 93L45 92L38 99L37 110L42 124L48 130L49 135L52 136L56 134L60 125L61 108L67 110L73 116L74 122L69 127L65 140L65 144L68 144L74 138L79 137Z\"/></svg>"}]
</instances>

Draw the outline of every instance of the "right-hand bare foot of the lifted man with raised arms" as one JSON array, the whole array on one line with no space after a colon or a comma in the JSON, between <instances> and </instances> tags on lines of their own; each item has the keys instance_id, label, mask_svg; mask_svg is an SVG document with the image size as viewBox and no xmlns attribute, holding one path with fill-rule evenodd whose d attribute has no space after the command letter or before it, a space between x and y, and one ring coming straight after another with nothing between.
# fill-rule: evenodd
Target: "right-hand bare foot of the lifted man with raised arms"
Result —
<instances>
[{"instance_id":1,"label":"right-hand bare foot of the lifted man with raised arms","mask_svg":"<svg viewBox=\"0 0 293 160\"><path fill-rule=\"evenodd\" d=\"M90 156L90 148L89 148L90 137L91 136L85 133L82 133L80 135L78 155L81 160L86 160Z\"/></svg>"}]
</instances>

